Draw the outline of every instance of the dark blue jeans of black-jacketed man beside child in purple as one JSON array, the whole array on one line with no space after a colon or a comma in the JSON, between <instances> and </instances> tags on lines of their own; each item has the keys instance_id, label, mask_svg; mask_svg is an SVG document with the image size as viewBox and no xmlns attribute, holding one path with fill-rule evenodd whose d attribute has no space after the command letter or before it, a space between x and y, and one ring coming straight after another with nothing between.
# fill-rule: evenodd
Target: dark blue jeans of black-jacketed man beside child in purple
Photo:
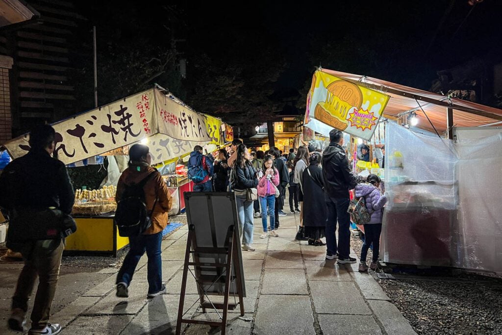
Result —
<instances>
[{"instance_id":1,"label":"dark blue jeans of black-jacketed man beside child in purple","mask_svg":"<svg viewBox=\"0 0 502 335\"><path fill-rule=\"evenodd\" d=\"M347 213L349 198L330 198L326 196L328 219L326 220L326 247L329 253L347 259L350 254L350 214ZM336 222L338 221L338 248L336 245Z\"/></svg>"}]
</instances>

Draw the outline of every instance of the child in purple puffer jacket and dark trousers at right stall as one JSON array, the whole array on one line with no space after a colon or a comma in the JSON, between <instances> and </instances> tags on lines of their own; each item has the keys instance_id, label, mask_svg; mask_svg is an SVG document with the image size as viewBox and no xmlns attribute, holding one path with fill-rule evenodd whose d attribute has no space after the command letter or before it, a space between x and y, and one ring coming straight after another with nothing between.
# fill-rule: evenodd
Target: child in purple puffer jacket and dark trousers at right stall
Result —
<instances>
[{"instance_id":1,"label":"child in purple puffer jacket and dark trousers at right stall","mask_svg":"<svg viewBox=\"0 0 502 335\"><path fill-rule=\"evenodd\" d=\"M364 225L364 243L361 249L361 260L359 263L359 272L368 271L366 265L366 255L369 246L373 244L373 259L369 268L375 270L378 265L378 257L380 250L380 234L382 234L382 219L384 216L384 205L387 202L387 197L382 195L379 186L382 180L375 174L370 174L366 178L365 184L357 184L355 186L355 196L364 197L366 209L371 214L369 222Z\"/></svg>"}]
</instances>

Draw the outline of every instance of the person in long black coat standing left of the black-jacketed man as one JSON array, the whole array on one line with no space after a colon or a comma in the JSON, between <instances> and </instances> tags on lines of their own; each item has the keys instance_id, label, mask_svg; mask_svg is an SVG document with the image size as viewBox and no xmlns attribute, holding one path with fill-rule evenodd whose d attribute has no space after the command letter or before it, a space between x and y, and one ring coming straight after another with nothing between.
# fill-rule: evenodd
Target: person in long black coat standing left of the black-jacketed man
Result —
<instances>
[{"instance_id":1,"label":"person in long black coat standing left of the black-jacketed man","mask_svg":"<svg viewBox=\"0 0 502 335\"><path fill-rule=\"evenodd\" d=\"M322 175L321 154L310 156L310 165L303 171L303 236L309 245L324 246L328 209L324 200L324 177ZM322 200L320 200L322 199Z\"/></svg>"}]
</instances>

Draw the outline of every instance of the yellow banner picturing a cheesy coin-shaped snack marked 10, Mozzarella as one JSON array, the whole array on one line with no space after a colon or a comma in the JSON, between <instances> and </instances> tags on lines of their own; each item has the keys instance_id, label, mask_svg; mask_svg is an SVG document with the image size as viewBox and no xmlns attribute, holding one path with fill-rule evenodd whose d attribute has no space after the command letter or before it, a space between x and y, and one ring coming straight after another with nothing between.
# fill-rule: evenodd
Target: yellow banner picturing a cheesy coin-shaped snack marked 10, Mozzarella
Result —
<instances>
[{"instance_id":1,"label":"yellow banner picturing a cheesy coin-shaped snack marked 10, Mozzarella","mask_svg":"<svg viewBox=\"0 0 502 335\"><path fill-rule=\"evenodd\" d=\"M322 135L336 128L369 141L389 95L316 71L307 96L304 125Z\"/></svg>"}]
</instances>

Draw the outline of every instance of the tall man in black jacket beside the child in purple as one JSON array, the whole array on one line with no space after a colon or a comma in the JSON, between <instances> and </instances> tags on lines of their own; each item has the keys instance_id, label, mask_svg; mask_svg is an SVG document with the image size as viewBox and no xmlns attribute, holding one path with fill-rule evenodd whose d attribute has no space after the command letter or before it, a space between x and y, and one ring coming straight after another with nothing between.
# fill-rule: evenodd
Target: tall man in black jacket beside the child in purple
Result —
<instances>
[{"instance_id":1,"label":"tall man in black jacket beside the child in purple","mask_svg":"<svg viewBox=\"0 0 502 335\"><path fill-rule=\"evenodd\" d=\"M326 259L335 259L338 251L338 263L355 263L350 254L350 214L347 213L350 202L348 190L353 189L360 181L352 174L347 156L342 148L343 133L333 129L329 132L329 146L322 155L322 173L324 176L324 192L328 207L326 221ZM338 248L335 238L338 221Z\"/></svg>"}]
</instances>

